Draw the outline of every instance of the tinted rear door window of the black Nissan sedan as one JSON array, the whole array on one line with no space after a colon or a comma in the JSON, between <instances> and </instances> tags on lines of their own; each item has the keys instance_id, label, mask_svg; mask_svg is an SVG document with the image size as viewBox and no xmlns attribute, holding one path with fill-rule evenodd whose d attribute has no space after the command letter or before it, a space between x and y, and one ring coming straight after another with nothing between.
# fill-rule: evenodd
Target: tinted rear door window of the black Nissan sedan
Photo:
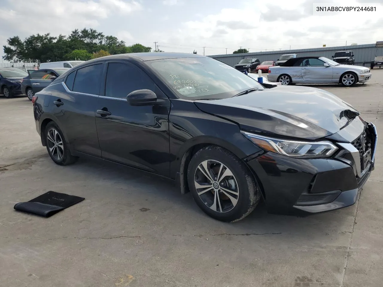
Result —
<instances>
[{"instance_id":1,"label":"tinted rear door window of the black Nissan sedan","mask_svg":"<svg viewBox=\"0 0 383 287\"><path fill-rule=\"evenodd\" d=\"M77 70L73 91L98 96L100 94L102 70L103 64L92 65Z\"/></svg>"}]
</instances>

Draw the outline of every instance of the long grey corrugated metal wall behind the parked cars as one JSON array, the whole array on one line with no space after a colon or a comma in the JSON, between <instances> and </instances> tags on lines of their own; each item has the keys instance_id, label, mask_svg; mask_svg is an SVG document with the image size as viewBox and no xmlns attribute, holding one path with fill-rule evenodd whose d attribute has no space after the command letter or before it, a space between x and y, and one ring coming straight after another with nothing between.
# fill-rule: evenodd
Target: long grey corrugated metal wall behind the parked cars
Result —
<instances>
[{"instance_id":1,"label":"long grey corrugated metal wall behind the parked cars","mask_svg":"<svg viewBox=\"0 0 383 287\"><path fill-rule=\"evenodd\" d=\"M299 49L299 50L285 50L285 51L267 51L245 54L226 54L226 55L211 55L208 57L220 60L228 65L234 66L243 58L257 58L261 62L267 60L276 61L282 54L297 54L298 57L306 56L322 56L332 59L336 51L354 51L355 65L362 65L365 61L372 61L375 56L383 55L383 48L376 48L375 44L355 45L355 46L341 46L341 47L324 47L314 49ZM367 65L366 65L367 67Z\"/></svg>"}]
</instances>

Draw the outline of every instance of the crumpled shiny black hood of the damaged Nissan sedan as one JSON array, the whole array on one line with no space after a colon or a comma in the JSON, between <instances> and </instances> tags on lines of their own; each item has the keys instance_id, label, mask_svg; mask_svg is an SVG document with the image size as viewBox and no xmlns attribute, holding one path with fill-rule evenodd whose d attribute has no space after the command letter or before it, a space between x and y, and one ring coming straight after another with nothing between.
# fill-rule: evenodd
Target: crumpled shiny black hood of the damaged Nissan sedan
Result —
<instances>
[{"instance_id":1,"label":"crumpled shiny black hood of the damaged Nissan sedan","mask_svg":"<svg viewBox=\"0 0 383 287\"><path fill-rule=\"evenodd\" d=\"M205 113L236 122L241 130L301 139L332 135L359 115L337 96L310 87L278 86L194 103Z\"/></svg>"}]
</instances>

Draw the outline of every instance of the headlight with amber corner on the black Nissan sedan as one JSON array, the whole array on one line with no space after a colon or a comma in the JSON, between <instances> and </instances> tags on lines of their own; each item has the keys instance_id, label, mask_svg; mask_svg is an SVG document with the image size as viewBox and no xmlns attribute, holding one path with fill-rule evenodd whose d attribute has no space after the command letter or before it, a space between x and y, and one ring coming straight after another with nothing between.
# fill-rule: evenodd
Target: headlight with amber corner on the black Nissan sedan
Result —
<instances>
[{"instance_id":1,"label":"headlight with amber corner on the black Nissan sedan","mask_svg":"<svg viewBox=\"0 0 383 287\"><path fill-rule=\"evenodd\" d=\"M338 148L331 142L301 142L273 139L241 131L242 134L260 148L288 157L323 158L331 156Z\"/></svg>"}]
</instances>

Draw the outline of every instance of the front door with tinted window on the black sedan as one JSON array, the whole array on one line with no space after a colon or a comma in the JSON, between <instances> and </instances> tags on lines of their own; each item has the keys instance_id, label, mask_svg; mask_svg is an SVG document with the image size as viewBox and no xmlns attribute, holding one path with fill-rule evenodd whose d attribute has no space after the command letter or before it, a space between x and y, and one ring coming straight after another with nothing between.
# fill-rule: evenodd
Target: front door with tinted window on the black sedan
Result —
<instances>
[{"instance_id":1,"label":"front door with tinted window on the black sedan","mask_svg":"<svg viewBox=\"0 0 383 287\"><path fill-rule=\"evenodd\" d=\"M142 89L154 91L162 101L131 106L126 96ZM169 176L169 112L169 99L146 73L133 64L109 62L105 94L96 108L101 156Z\"/></svg>"}]
</instances>

